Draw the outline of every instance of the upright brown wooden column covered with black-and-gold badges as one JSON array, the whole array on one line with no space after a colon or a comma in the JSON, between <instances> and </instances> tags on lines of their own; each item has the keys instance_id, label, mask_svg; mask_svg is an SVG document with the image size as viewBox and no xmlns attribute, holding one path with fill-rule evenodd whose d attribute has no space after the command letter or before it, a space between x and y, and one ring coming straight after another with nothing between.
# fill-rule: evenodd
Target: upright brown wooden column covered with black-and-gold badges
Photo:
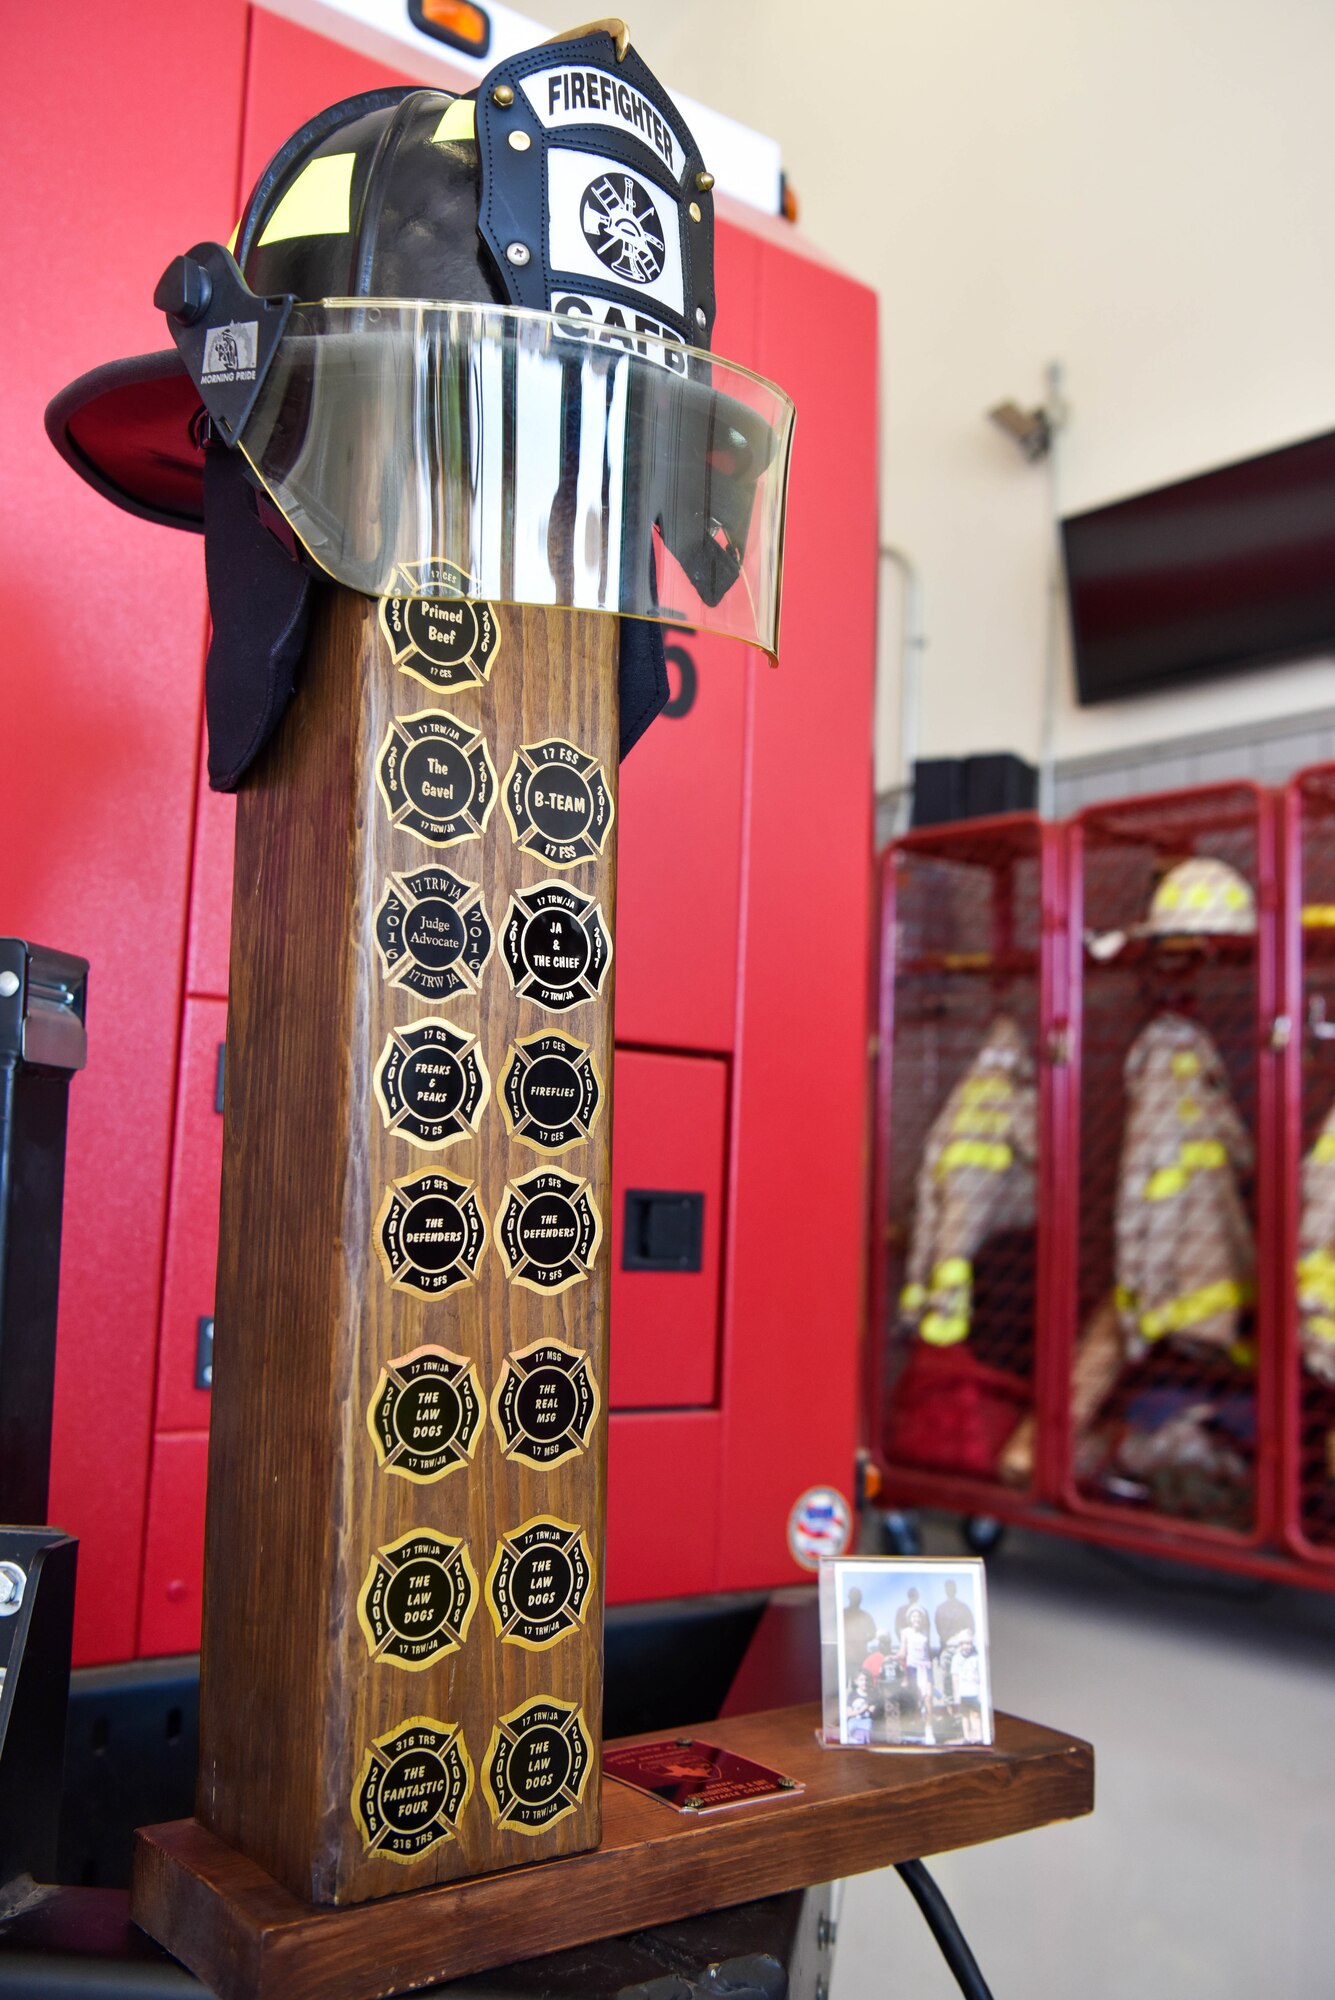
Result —
<instances>
[{"instance_id":1,"label":"upright brown wooden column covered with black-and-gold badges","mask_svg":"<svg viewBox=\"0 0 1335 2000\"><path fill-rule=\"evenodd\" d=\"M618 622L328 590L238 800L198 1818L600 1840Z\"/></svg>"}]
</instances>

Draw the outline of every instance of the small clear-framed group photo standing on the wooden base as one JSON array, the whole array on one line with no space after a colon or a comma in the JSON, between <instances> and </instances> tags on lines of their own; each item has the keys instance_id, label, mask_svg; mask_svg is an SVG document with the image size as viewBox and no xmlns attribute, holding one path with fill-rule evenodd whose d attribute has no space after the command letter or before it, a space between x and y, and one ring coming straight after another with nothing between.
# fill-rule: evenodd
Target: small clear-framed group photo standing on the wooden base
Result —
<instances>
[{"instance_id":1,"label":"small clear-framed group photo standing on the wooden base","mask_svg":"<svg viewBox=\"0 0 1335 2000\"><path fill-rule=\"evenodd\" d=\"M821 1562L823 1738L859 1750L991 1742L987 1580L971 1556Z\"/></svg>"}]
</instances>

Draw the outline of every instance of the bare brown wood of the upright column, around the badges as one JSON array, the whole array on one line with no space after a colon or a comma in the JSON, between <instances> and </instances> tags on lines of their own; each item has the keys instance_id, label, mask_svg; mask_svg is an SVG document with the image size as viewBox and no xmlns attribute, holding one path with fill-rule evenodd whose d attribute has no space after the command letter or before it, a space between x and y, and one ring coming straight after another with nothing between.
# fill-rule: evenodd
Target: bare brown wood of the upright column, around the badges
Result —
<instances>
[{"instance_id":1,"label":"bare brown wood of the upright column, around the badges","mask_svg":"<svg viewBox=\"0 0 1335 2000\"><path fill-rule=\"evenodd\" d=\"M612 934L616 828L602 854L556 868L520 850L500 794L522 744L560 736L600 760L616 800L618 628L496 616L490 678L442 692L396 668L376 604L326 590L298 700L238 800L198 1816L316 1904L600 1836L614 968L596 998L548 1012L516 996L502 930L514 890L556 880L596 898ZM436 846L392 824L378 762L396 718L424 712L486 740L482 836ZM376 942L392 878L424 868L478 884L494 934L478 990L444 1000L392 982ZM374 1086L392 1030L424 1020L476 1036L490 1078L478 1130L434 1148L388 1128ZM556 1296L512 1282L498 1244L508 1184L548 1164L510 1136L498 1100L516 1040L544 1028L588 1044L602 1076L592 1134L552 1162L590 1184L602 1244ZM392 1282L378 1248L392 1184L422 1174L472 1186L486 1218L476 1276L440 1296ZM600 1396L586 1444L550 1468L508 1456L490 1408L508 1356L538 1340L586 1354ZM368 1426L382 1372L422 1346L474 1364L482 1396L472 1458L430 1480L382 1464ZM500 1536L536 1516L582 1528L594 1570L584 1622L546 1650L502 1642L486 1602ZM378 1552L416 1530L466 1546L474 1604L464 1644L410 1670L372 1656L358 1600ZM500 1718L548 1696L580 1710L594 1756L572 1810L534 1834L496 1824L484 1766ZM414 1858L368 1852L354 1794L374 1740L394 1746L412 1718L460 1732L472 1776L458 1836Z\"/></svg>"}]
</instances>

